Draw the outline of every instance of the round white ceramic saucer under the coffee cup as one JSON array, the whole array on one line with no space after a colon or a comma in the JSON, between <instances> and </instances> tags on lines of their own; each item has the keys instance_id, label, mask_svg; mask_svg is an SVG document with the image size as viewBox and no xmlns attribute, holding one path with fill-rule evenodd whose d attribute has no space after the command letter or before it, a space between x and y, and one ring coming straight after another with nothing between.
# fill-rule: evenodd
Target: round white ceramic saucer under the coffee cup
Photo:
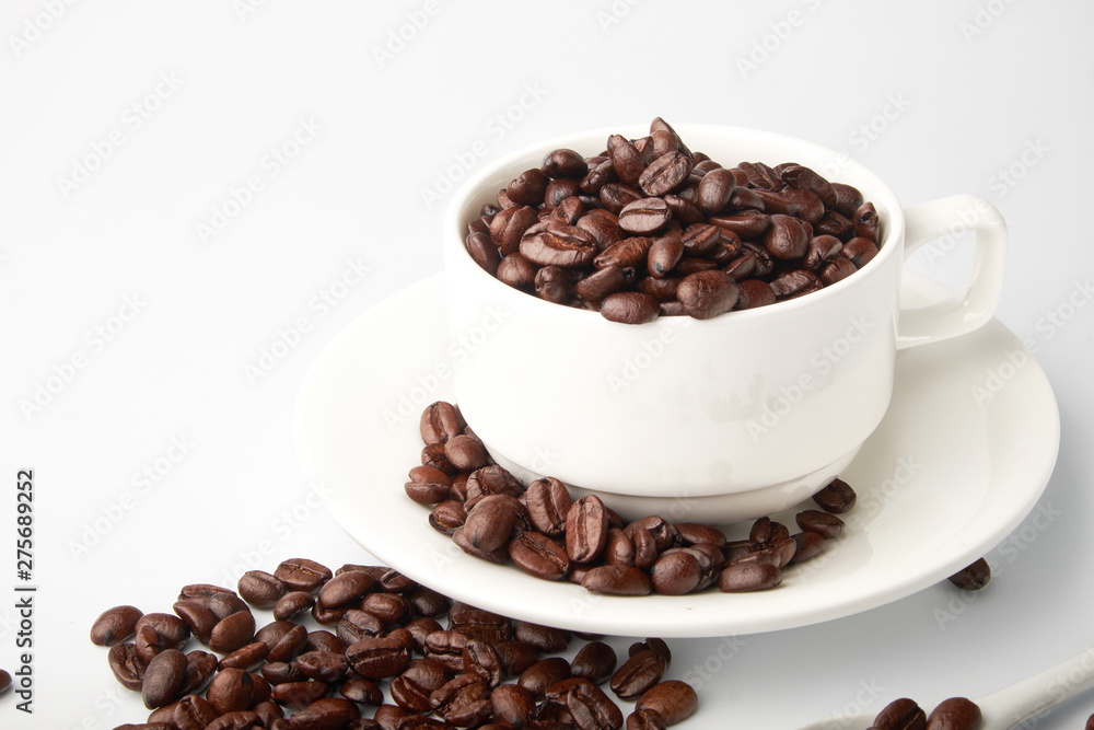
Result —
<instances>
[{"instance_id":1,"label":"round white ceramic saucer under the coffee cup","mask_svg":"<svg viewBox=\"0 0 1094 730\"><path fill-rule=\"evenodd\" d=\"M933 282L906 273L905 301ZM917 301L918 300L918 301ZM859 503L826 553L765 592L602 596L459 551L403 490L421 409L451 399L444 278L369 310L323 350L296 404L305 468L337 522L374 557L446 595L508 616L615 636L722 636L805 626L931 586L984 556L1040 497L1060 419L1044 371L1000 322L898 354L889 410L843 478ZM474 424L472 424L474 427ZM812 501L801 509L812 508ZM794 526L794 512L777 513ZM686 521L687 517L676 517ZM745 525L734 525L742 532Z\"/></svg>"}]
</instances>

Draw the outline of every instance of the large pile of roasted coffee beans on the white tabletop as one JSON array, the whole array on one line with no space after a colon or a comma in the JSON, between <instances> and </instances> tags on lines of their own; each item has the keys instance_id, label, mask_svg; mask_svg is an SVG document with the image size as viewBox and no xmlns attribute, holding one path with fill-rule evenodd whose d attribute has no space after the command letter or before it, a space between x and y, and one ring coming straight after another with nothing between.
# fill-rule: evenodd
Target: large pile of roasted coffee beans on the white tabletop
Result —
<instances>
[{"instance_id":1,"label":"large pile of roasted coffee beans on the white tabletop","mask_svg":"<svg viewBox=\"0 0 1094 730\"><path fill-rule=\"evenodd\" d=\"M627 730L663 730L698 708L690 685L664 679L661 639L620 662L603 637L453 602L385 567L294 558L236 591L185 586L172 609L115 606L91 628L152 710L117 730L618 730L617 699L635 703ZM274 621L258 627L253 609ZM309 630L309 616L329 629ZM584 644L567 660L574 636ZM190 639L209 651L186 651Z\"/></svg>"}]
</instances>

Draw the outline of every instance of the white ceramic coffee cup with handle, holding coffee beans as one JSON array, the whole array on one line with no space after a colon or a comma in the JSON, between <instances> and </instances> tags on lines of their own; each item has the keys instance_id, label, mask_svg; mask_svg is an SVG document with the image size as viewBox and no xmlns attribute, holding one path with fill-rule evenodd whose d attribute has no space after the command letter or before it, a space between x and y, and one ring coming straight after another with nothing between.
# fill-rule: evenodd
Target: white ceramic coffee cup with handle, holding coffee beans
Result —
<instances>
[{"instance_id":1,"label":"white ceramic coffee cup with handle, holding coffee beans","mask_svg":"<svg viewBox=\"0 0 1094 730\"><path fill-rule=\"evenodd\" d=\"M498 281L468 255L467 222L544 155L603 150L600 129L548 140L489 164L456 193L444 221L456 402L491 454L519 476L549 474L621 513L674 501L717 519L798 503L837 476L888 407L898 349L955 337L991 318L1006 232L982 198L905 210L876 175L811 142L767 131L678 125L693 150L725 166L796 162L853 185L881 221L880 253L821 291L755 310L643 325L554 304ZM901 310L905 260L962 230L977 234L967 292Z\"/></svg>"}]
</instances>

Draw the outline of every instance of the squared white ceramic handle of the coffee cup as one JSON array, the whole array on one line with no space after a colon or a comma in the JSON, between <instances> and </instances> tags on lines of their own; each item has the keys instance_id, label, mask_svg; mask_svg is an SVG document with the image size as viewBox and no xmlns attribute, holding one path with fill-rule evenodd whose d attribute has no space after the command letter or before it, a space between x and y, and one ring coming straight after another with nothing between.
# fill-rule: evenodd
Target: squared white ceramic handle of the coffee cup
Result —
<instances>
[{"instance_id":1,"label":"squared white ceramic handle of the coffee cup","mask_svg":"<svg viewBox=\"0 0 1094 730\"><path fill-rule=\"evenodd\" d=\"M904 258L920 246L959 231L976 231L976 258L964 296L921 309L901 309L897 349L936 343L973 332L991 318L1003 288L1006 223L1002 215L976 195L954 195L905 210Z\"/></svg>"}]
</instances>

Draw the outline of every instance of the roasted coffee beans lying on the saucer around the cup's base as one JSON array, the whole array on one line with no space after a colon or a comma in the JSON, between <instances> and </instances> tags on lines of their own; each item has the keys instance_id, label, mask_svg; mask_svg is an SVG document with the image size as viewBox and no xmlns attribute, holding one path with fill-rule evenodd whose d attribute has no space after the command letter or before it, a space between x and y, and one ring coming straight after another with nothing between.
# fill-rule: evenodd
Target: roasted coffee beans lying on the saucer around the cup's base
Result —
<instances>
[{"instance_id":1,"label":"roasted coffee beans lying on the saucer around the cup's base","mask_svg":"<svg viewBox=\"0 0 1094 730\"><path fill-rule=\"evenodd\" d=\"M554 477L527 488L492 463L459 410L446 402L427 406L419 421L421 465L404 486L414 501L431 506L429 523L464 552L496 564L512 563L545 580L570 580L615 595L682 595L717 584L725 592L775 588L788 566L817 556L837 538L856 495L836 479L813 498L821 509L795 517L799 532L770 518L756 520L742 540L720 529L673 523L650 515L625 523L595 495L572 499Z\"/></svg>"}]
</instances>

